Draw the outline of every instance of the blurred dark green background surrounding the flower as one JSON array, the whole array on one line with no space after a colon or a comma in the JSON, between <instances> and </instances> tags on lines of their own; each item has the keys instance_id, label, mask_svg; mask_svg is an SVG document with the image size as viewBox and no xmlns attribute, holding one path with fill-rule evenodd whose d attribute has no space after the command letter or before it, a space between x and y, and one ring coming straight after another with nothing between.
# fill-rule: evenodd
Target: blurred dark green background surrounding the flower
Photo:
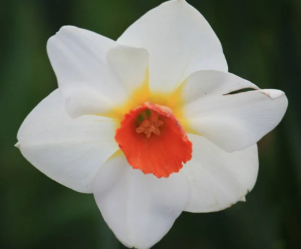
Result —
<instances>
[{"instance_id":1,"label":"blurred dark green background surrounding the flower","mask_svg":"<svg viewBox=\"0 0 301 249\"><path fill-rule=\"evenodd\" d=\"M160 0L11 0L0 7L0 248L124 248L93 195L74 192L14 147L26 115L56 85L47 39L74 25L112 39ZM289 100L259 143L255 188L217 213L182 213L159 248L301 248L301 0L191 0L223 45L229 71Z\"/></svg>"}]
</instances>

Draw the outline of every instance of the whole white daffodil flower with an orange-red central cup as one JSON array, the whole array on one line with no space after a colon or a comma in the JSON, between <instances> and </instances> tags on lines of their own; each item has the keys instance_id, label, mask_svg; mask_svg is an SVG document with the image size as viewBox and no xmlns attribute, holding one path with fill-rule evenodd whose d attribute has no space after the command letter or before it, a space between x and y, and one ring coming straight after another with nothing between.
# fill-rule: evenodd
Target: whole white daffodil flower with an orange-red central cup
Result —
<instances>
[{"instance_id":1,"label":"whole white daffodil flower with an orange-red central cup","mask_svg":"<svg viewBox=\"0 0 301 249\"><path fill-rule=\"evenodd\" d=\"M24 120L16 146L48 177L93 193L124 245L149 248L183 210L245 200L256 142L287 98L228 73L212 28L184 0L149 11L116 42L62 27L47 52L59 88ZM254 90L228 94L243 88Z\"/></svg>"}]
</instances>

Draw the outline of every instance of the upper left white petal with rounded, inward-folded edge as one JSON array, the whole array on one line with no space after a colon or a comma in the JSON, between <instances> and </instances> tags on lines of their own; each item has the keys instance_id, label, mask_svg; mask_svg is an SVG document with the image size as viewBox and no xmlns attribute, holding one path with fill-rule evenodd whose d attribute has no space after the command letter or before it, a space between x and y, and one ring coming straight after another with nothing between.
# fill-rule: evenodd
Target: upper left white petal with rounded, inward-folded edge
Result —
<instances>
[{"instance_id":1,"label":"upper left white petal with rounded, inward-folded edge","mask_svg":"<svg viewBox=\"0 0 301 249\"><path fill-rule=\"evenodd\" d=\"M72 116L105 113L127 99L124 84L106 62L116 44L94 32L65 26L47 43L60 92Z\"/></svg>"}]
</instances>

